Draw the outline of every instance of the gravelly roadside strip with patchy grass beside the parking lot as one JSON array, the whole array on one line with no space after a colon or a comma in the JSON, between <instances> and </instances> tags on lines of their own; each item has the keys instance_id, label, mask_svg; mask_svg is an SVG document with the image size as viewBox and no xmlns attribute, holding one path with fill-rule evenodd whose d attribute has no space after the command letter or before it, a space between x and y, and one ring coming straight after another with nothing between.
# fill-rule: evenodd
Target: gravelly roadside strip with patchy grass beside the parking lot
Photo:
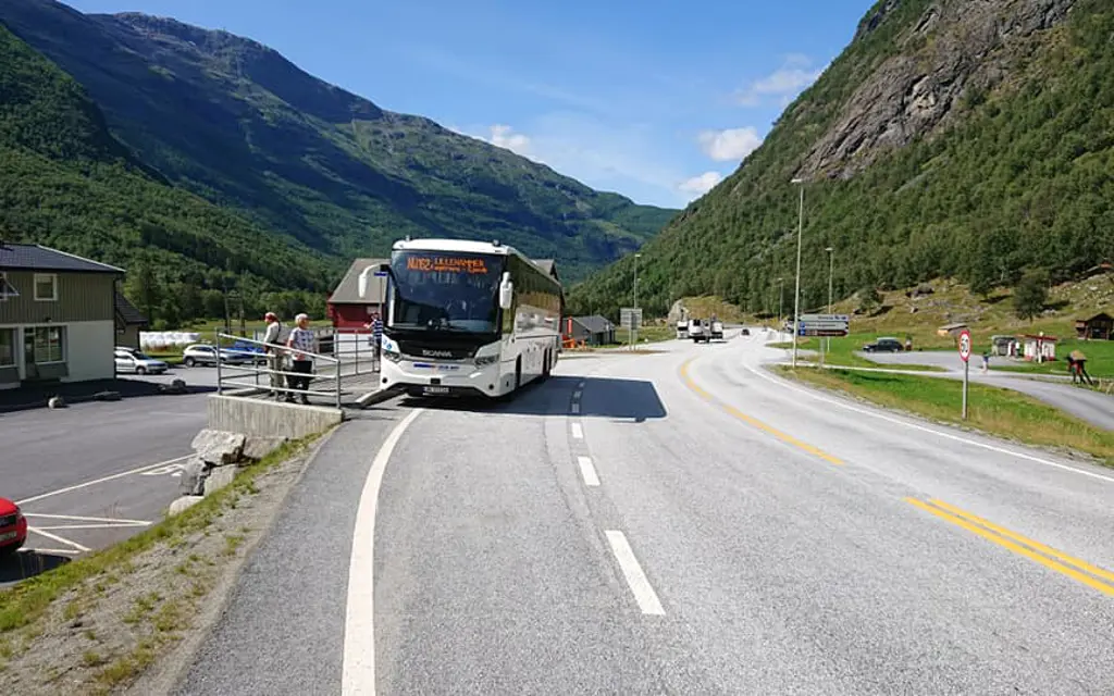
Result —
<instances>
[{"instance_id":1,"label":"gravelly roadside strip with patchy grass beside the parking lot","mask_svg":"<svg viewBox=\"0 0 1114 696\"><path fill-rule=\"evenodd\" d=\"M284 447L139 537L0 592L4 690L168 688L321 444Z\"/></svg>"}]
</instances>

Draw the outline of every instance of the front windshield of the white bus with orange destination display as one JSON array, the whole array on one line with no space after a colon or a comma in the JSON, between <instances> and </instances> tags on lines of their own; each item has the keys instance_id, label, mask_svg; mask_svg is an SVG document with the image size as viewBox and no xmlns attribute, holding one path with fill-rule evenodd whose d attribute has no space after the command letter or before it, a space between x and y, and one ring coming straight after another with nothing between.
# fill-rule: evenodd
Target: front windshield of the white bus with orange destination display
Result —
<instances>
[{"instance_id":1,"label":"front windshield of the white bus with orange destination display","mask_svg":"<svg viewBox=\"0 0 1114 696\"><path fill-rule=\"evenodd\" d=\"M504 256L395 252L388 326L408 331L496 333Z\"/></svg>"}]
</instances>

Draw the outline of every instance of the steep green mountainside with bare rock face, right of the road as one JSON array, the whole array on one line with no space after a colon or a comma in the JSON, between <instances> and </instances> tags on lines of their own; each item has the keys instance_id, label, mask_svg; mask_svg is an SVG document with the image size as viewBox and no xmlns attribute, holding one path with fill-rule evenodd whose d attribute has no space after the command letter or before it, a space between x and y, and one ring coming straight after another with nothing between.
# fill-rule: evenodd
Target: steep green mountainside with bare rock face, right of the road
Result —
<instances>
[{"instance_id":1,"label":"steep green mountainside with bare rock face, right of the road","mask_svg":"<svg viewBox=\"0 0 1114 696\"><path fill-rule=\"evenodd\" d=\"M791 311L947 276L988 290L1114 261L1114 4L880 0L762 147L642 251L639 302ZM827 247L834 249L830 258ZM634 258L578 286L629 302Z\"/></svg>"}]
</instances>

